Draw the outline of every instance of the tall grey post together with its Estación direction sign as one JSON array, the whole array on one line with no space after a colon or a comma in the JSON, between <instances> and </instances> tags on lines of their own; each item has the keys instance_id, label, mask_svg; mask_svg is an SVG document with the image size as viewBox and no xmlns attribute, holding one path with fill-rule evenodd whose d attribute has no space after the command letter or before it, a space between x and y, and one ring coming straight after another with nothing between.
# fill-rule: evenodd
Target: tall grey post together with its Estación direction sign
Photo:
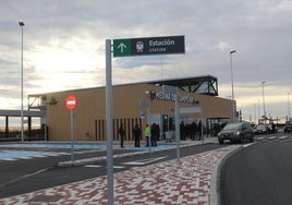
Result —
<instances>
[{"instance_id":1,"label":"tall grey post together with its Estaci\u00f3n direction sign","mask_svg":"<svg viewBox=\"0 0 292 205\"><path fill-rule=\"evenodd\" d=\"M111 46L113 46L113 51ZM113 205L111 52L113 52L113 57L184 53L184 36L113 39L113 45L111 45L111 39L106 39L108 205Z\"/></svg>"}]
</instances>

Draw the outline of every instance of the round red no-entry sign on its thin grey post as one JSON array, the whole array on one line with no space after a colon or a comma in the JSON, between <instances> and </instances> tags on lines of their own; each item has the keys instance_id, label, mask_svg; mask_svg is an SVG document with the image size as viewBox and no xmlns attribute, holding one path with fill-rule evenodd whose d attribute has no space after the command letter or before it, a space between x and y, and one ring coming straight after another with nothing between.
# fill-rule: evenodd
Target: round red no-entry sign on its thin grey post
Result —
<instances>
[{"instance_id":1,"label":"round red no-entry sign on its thin grey post","mask_svg":"<svg viewBox=\"0 0 292 205\"><path fill-rule=\"evenodd\" d=\"M74 161L74 141L75 141L75 128L76 128L76 120L75 120L75 108L77 106L77 99L74 95L69 95L65 98L65 106L71 112L71 162Z\"/></svg>"}]
</instances>

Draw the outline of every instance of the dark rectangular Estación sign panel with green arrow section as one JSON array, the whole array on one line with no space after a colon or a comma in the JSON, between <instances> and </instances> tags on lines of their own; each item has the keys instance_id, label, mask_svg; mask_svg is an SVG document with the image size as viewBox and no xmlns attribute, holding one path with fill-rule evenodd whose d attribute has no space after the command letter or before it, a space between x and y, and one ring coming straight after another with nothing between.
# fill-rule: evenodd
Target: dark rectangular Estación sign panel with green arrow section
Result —
<instances>
[{"instance_id":1,"label":"dark rectangular Estaci\u00f3n sign panel with green arrow section","mask_svg":"<svg viewBox=\"0 0 292 205\"><path fill-rule=\"evenodd\" d=\"M184 52L184 36L113 39L113 57Z\"/></svg>"}]
</instances>

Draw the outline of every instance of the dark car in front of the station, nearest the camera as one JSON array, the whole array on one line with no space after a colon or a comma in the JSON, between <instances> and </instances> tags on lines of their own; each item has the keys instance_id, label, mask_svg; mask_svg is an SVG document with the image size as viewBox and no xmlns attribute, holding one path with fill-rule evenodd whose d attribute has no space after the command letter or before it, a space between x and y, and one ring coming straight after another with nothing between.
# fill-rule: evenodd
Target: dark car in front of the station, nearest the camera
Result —
<instances>
[{"instance_id":1,"label":"dark car in front of the station, nearest the camera","mask_svg":"<svg viewBox=\"0 0 292 205\"><path fill-rule=\"evenodd\" d=\"M231 142L243 143L244 141L254 141L254 131L248 122L238 122L227 124L221 132L218 133L219 144L223 144L224 140Z\"/></svg>"}]
</instances>

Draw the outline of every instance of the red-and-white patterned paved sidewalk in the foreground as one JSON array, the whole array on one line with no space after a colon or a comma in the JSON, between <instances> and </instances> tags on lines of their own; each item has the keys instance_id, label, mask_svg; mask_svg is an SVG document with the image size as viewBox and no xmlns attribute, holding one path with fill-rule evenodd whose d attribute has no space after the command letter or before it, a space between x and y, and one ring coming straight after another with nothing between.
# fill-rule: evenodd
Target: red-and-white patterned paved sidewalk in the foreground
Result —
<instances>
[{"instance_id":1,"label":"red-and-white patterned paved sidewalk in the foreground","mask_svg":"<svg viewBox=\"0 0 292 205\"><path fill-rule=\"evenodd\" d=\"M217 166L238 145L114 173L114 204L209 205ZM107 204L107 177L1 198L0 204ZM216 204L216 203L214 203ZM212 205L214 205L212 204Z\"/></svg>"}]
</instances>

